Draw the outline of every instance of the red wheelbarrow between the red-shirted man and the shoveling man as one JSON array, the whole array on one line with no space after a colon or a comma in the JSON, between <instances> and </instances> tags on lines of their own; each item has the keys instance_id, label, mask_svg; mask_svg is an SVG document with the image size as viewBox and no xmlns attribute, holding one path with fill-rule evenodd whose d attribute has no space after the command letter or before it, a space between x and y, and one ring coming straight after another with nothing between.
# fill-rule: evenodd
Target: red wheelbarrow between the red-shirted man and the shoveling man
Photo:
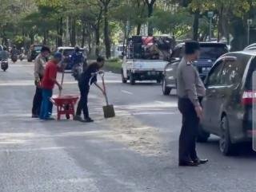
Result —
<instances>
[{"instance_id":1,"label":"red wheelbarrow between the red-shirted man and the shoveling man","mask_svg":"<svg viewBox=\"0 0 256 192\"><path fill-rule=\"evenodd\" d=\"M79 96L63 95L53 96L51 102L57 107L58 120L61 120L62 115L66 115L69 120L70 116L74 118L74 106L78 102Z\"/></svg>"}]
</instances>

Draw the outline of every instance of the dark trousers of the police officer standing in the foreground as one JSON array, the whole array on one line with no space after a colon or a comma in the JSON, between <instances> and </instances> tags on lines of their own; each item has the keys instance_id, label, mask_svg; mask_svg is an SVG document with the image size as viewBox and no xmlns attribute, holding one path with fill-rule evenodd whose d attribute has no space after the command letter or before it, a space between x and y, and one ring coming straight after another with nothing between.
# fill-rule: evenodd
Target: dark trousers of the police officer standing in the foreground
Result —
<instances>
[{"instance_id":1,"label":"dark trousers of the police officer standing in the foreground","mask_svg":"<svg viewBox=\"0 0 256 192\"><path fill-rule=\"evenodd\" d=\"M202 98L199 98L200 102ZM179 98L178 109L182 113L182 131L179 136L179 162L198 159L196 139L198 137L199 118L194 104L189 99Z\"/></svg>"}]
</instances>

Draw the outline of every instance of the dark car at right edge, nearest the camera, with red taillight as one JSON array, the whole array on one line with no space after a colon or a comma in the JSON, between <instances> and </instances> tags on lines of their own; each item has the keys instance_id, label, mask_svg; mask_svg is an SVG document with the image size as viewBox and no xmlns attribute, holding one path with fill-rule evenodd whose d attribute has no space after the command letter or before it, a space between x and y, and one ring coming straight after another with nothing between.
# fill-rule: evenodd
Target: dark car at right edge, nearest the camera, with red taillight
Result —
<instances>
[{"instance_id":1,"label":"dark car at right edge, nearest the camera, with red taillight","mask_svg":"<svg viewBox=\"0 0 256 192\"><path fill-rule=\"evenodd\" d=\"M227 53L215 62L205 81L198 141L218 135L223 155L236 153L239 143L252 142L255 70L256 52Z\"/></svg>"}]
</instances>

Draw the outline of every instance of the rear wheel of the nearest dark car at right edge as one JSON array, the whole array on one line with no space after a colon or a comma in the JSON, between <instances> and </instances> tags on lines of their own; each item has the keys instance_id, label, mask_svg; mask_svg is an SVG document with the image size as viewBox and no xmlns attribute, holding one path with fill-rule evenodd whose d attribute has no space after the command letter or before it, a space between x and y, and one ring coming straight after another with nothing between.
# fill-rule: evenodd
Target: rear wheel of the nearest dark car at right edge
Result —
<instances>
[{"instance_id":1,"label":"rear wheel of the nearest dark car at right edge","mask_svg":"<svg viewBox=\"0 0 256 192\"><path fill-rule=\"evenodd\" d=\"M219 139L219 149L223 155L234 155L236 145L230 140L229 121L226 116L222 118L221 122L221 138Z\"/></svg>"}]
</instances>

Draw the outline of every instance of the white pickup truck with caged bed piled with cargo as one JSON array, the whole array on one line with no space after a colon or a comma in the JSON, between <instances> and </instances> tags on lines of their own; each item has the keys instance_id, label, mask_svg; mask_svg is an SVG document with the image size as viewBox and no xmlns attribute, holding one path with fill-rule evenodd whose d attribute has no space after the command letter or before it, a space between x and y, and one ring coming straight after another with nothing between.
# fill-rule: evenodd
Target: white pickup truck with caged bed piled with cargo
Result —
<instances>
[{"instance_id":1,"label":"white pickup truck with caged bed piled with cargo","mask_svg":"<svg viewBox=\"0 0 256 192\"><path fill-rule=\"evenodd\" d=\"M168 64L170 38L133 36L127 41L122 62L122 82L135 84L136 80L162 81Z\"/></svg>"}]
</instances>

